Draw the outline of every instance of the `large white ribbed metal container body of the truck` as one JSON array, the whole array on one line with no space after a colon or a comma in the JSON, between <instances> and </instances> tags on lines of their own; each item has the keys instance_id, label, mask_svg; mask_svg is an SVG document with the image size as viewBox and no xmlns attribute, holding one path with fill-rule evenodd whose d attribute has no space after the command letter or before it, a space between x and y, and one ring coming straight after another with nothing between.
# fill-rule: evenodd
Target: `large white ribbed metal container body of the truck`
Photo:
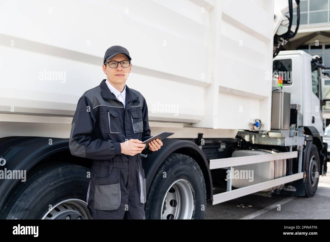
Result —
<instances>
[{"instance_id":1,"label":"large white ribbed metal container body of the truck","mask_svg":"<svg viewBox=\"0 0 330 242\"><path fill-rule=\"evenodd\" d=\"M270 130L273 5L1 1L0 137L69 138L79 97L106 78L112 45L130 52L126 84L145 96L152 135L230 138L254 119Z\"/></svg>"}]
</instances>

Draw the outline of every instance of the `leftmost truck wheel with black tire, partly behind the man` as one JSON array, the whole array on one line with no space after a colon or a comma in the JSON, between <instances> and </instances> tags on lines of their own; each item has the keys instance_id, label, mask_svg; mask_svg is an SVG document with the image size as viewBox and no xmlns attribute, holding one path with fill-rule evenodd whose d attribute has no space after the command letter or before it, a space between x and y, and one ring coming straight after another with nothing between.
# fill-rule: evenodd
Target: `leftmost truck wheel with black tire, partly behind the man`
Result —
<instances>
[{"instance_id":1,"label":"leftmost truck wheel with black tire, partly behind the man","mask_svg":"<svg viewBox=\"0 0 330 242\"><path fill-rule=\"evenodd\" d=\"M26 173L6 200L0 219L91 219L87 172L71 164L43 162Z\"/></svg>"}]
</instances>

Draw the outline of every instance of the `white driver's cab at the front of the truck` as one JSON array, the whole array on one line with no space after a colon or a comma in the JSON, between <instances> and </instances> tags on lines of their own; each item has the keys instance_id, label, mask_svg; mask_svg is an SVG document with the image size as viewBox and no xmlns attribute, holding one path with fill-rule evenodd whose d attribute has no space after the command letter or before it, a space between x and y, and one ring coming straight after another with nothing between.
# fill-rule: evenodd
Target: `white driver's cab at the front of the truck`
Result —
<instances>
[{"instance_id":1,"label":"white driver's cab at the front of the truck","mask_svg":"<svg viewBox=\"0 0 330 242\"><path fill-rule=\"evenodd\" d=\"M298 127L313 126L321 137L325 128L322 115L322 67L320 59L303 50L280 51L273 61L273 73L283 79L283 92L291 94L291 104L300 105Z\"/></svg>"}]
</instances>

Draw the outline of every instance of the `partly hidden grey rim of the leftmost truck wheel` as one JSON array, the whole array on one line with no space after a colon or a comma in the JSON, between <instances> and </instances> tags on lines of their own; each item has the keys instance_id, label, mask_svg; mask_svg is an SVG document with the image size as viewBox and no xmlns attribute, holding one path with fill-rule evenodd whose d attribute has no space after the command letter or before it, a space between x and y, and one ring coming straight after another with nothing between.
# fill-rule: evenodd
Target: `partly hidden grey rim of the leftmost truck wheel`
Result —
<instances>
[{"instance_id":1,"label":"partly hidden grey rim of the leftmost truck wheel","mask_svg":"<svg viewBox=\"0 0 330 242\"><path fill-rule=\"evenodd\" d=\"M42 219L89 219L87 203L80 199L67 199L55 204Z\"/></svg>"}]
</instances>

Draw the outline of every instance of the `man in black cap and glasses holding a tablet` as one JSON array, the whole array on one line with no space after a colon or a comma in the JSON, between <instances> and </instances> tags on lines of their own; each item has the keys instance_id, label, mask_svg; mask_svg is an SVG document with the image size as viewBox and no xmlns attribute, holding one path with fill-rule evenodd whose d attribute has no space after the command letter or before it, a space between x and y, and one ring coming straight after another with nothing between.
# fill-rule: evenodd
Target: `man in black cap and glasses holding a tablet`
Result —
<instances>
[{"instance_id":1,"label":"man in black cap and glasses holding a tablet","mask_svg":"<svg viewBox=\"0 0 330 242\"><path fill-rule=\"evenodd\" d=\"M78 101L71 126L72 155L93 159L86 202L93 219L145 219L146 178L141 154L163 145L150 136L143 95L125 82L131 57L122 46L110 47L103 59L107 79Z\"/></svg>"}]
</instances>

